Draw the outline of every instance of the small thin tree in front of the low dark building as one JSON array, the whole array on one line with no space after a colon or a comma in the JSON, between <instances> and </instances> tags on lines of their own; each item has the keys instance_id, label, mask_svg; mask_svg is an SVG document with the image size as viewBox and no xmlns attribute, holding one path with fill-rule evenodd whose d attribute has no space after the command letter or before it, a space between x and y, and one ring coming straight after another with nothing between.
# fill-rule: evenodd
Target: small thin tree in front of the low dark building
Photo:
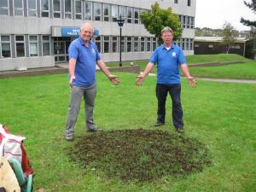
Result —
<instances>
[{"instance_id":1,"label":"small thin tree in front of the low dark building","mask_svg":"<svg viewBox=\"0 0 256 192\"><path fill-rule=\"evenodd\" d=\"M234 26L230 24L230 22L225 22L223 25L223 42L222 44L226 45L227 54L229 54L231 46L235 42L236 31Z\"/></svg>"}]
</instances>

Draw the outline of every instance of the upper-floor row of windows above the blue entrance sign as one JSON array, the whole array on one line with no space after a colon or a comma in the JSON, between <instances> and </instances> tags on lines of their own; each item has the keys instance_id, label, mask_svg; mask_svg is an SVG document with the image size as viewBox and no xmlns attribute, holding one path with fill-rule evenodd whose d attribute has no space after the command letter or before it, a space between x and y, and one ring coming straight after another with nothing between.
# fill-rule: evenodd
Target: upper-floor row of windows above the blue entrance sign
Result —
<instances>
[{"instance_id":1,"label":"upper-floor row of windows above the blue entrance sign","mask_svg":"<svg viewBox=\"0 0 256 192\"><path fill-rule=\"evenodd\" d=\"M84 2L83 0L0 1L0 15L102 21L116 21L118 16L121 15L126 23L139 24L141 23L139 15L144 11L148 10L109 3ZM194 17L179 15L179 19L182 22L183 28L194 28Z\"/></svg>"}]
</instances>

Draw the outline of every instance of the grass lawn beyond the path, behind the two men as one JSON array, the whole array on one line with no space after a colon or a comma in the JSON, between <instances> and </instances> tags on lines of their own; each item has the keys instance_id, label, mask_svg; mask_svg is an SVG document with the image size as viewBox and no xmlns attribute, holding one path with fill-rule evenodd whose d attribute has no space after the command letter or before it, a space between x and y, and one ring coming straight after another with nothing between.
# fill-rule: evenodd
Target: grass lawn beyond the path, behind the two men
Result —
<instances>
[{"instance_id":1,"label":"grass lawn beyond the path, behind the two men","mask_svg":"<svg viewBox=\"0 0 256 192\"><path fill-rule=\"evenodd\" d=\"M241 61L241 64L232 64L216 67L189 67L192 76L197 78L224 78L224 79L256 79L256 62L250 61L241 55L235 54L218 54L218 55L187 55L188 65L196 63L209 62L228 62ZM139 65L143 72L148 61L133 61L134 65ZM124 61L124 66L129 66L131 61ZM108 67L118 67L119 63L108 63ZM156 73L154 67L150 73ZM183 75L183 74L182 74Z\"/></svg>"}]
</instances>

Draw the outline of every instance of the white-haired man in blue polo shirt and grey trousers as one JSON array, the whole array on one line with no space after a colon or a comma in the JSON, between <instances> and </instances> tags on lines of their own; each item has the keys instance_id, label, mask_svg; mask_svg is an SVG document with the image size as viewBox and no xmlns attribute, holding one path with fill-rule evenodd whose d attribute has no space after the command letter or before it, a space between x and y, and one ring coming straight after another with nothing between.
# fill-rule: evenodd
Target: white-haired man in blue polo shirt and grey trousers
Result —
<instances>
[{"instance_id":1,"label":"white-haired man in blue polo shirt and grey trousers","mask_svg":"<svg viewBox=\"0 0 256 192\"><path fill-rule=\"evenodd\" d=\"M115 85L119 84L117 76L112 75L101 60L96 44L90 41L93 27L84 23L80 28L79 38L73 40L68 48L69 85L71 98L68 105L66 140L72 141L74 126L79 115L80 103L84 96L84 113L87 131L99 131L93 120L93 109L96 98L96 65Z\"/></svg>"}]
</instances>

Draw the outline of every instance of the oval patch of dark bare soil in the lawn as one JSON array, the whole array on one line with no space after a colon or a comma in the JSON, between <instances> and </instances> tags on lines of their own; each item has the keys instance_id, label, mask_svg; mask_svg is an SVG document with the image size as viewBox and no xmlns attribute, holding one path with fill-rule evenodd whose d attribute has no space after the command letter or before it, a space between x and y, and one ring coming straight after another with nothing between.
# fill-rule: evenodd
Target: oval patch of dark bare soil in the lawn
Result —
<instances>
[{"instance_id":1,"label":"oval patch of dark bare soil in the lawn","mask_svg":"<svg viewBox=\"0 0 256 192\"><path fill-rule=\"evenodd\" d=\"M100 170L125 182L186 176L211 164L204 143L167 131L102 131L76 141L72 160L86 171Z\"/></svg>"}]
</instances>

